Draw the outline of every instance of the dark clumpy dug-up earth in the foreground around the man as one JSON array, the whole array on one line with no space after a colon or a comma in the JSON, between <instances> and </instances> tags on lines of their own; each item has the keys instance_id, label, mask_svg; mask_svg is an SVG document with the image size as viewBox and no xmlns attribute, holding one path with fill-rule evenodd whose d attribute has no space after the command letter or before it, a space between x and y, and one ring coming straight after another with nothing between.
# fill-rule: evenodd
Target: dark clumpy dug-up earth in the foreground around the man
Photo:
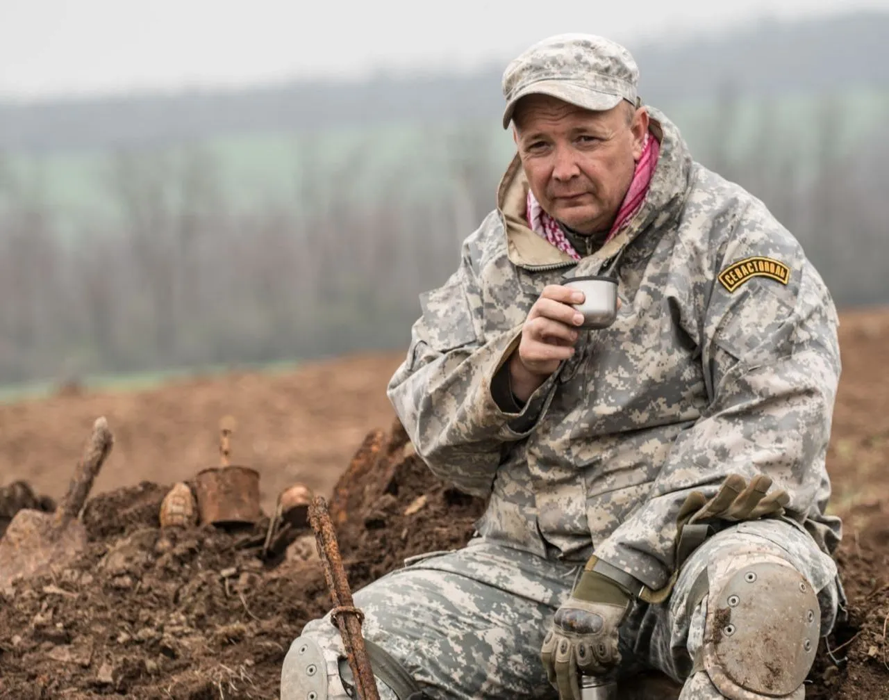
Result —
<instances>
[{"instance_id":1,"label":"dark clumpy dug-up earth in the foreground around the man","mask_svg":"<svg viewBox=\"0 0 889 700\"><path fill-rule=\"evenodd\" d=\"M263 557L268 519L162 528L168 491L142 482L94 496L83 555L0 593L0 698L277 697L291 640L331 607L314 535L295 530ZM33 492L20 500L52 511ZM397 422L366 436L329 501L353 590L407 557L460 547L485 505L436 479ZM837 554L850 619L821 640L806 697L889 697L889 511L873 502L844 516L856 533Z\"/></svg>"}]
</instances>

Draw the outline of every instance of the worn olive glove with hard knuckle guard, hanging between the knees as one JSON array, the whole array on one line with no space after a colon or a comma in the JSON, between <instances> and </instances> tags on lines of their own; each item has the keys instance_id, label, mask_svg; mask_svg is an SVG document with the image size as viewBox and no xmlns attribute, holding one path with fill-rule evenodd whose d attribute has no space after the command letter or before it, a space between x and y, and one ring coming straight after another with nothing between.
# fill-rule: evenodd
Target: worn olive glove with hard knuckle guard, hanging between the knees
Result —
<instances>
[{"instance_id":1,"label":"worn olive glove with hard knuckle guard, hanging between the knees","mask_svg":"<svg viewBox=\"0 0 889 700\"><path fill-rule=\"evenodd\" d=\"M560 700L581 700L579 673L603 675L621 662L618 628L632 598L589 568L556 611L541 647L543 667Z\"/></svg>"}]
</instances>

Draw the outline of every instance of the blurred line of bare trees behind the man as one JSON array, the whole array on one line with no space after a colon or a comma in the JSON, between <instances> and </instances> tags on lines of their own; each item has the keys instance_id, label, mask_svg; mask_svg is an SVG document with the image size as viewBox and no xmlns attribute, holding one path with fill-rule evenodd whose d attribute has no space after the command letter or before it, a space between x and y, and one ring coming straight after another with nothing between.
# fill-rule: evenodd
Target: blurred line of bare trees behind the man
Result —
<instances>
[{"instance_id":1,"label":"blurred line of bare trees behind the man","mask_svg":"<svg viewBox=\"0 0 889 700\"><path fill-rule=\"evenodd\" d=\"M695 157L765 201L841 306L889 301L882 133L839 149L846 114L826 100L800 115L815 135L788 140L766 101L753 147L737 153L725 134L739 100L723 94ZM501 171L487 134L453 139L448 185L422 202L399 194L421 152L371 203L349 196L358 150L337 172L322 153L300 159L287 205L244 209L222 196L208 150L120 151L102 174L116 217L87 213L67 237L40 182L0 155L0 384L404 347L417 294L455 269L461 240L493 207Z\"/></svg>"}]
</instances>

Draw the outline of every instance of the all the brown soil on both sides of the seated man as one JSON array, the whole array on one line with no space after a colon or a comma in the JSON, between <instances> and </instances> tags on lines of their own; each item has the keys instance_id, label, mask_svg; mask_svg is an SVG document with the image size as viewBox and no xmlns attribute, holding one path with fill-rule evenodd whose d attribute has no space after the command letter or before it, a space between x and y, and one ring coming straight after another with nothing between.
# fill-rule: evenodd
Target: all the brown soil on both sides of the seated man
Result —
<instances>
[{"instance_id":1,"label":"all the brown soil on both sides of the seated man","mask_svg":"<svg viewBox=\"0 0 889 700\"><path fill-rule=\"evenodd\" d=\"M882 497L889 485L889 313L845 314L842 344L829 469L834 508L845 518L837 560L850 624L830 640L838 666L821 645L807 693L816 700L889 697L889 505ZM483 503L435 479L397 424L379 430L392 418L383 390L400 360L350 358L276 377L0 406L7 486L28 479L57 498L95 417L107 415L117 436L84 511L91 540L84 556L0 595L0 698L276 697L290 640L330 607L311 557L314 539L300 533L286 559L263 561L266 521L233 531L161 529L157 521L167 490L157 484L215 462L223 414L238 420L234 461L259 468L267 512L293 480L331 495L353 588L412 554L464 542ZM33 493L17 497L52 507ZM7 496L6 511L15 510L13 500Z\"/></svg>"}]
</instances>

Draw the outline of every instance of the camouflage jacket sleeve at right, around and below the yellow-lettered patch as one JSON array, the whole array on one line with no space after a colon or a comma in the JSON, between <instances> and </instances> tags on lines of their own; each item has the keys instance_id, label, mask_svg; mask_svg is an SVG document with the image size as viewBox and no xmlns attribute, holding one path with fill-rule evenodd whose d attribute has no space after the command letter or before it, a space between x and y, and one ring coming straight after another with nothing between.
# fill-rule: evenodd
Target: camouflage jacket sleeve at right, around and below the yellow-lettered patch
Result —
<instances>
[{"instance_id":1,"label":"camouflage jacket sleeve at right, around and below the yellow-lettered patch","mask_svg":"<svg viewBox=\"0 0 889 700\"><path fill-rule=\"evenodd\" d=\"M723 269L769 250L761 242L729 245ZM798 245L777 250L789 263L787 284L756 276L730 292L712 280L699 314L709 406L671 447L648 499L596 547L600 559L649 588L665 585L676 567L676 518L686 496L715 495L732 473L771 477L790 495L787 516L822 549L836 546L838 520L824 514L824 460L840 373L837 314Z\"/></svg>"}]
</instances>

